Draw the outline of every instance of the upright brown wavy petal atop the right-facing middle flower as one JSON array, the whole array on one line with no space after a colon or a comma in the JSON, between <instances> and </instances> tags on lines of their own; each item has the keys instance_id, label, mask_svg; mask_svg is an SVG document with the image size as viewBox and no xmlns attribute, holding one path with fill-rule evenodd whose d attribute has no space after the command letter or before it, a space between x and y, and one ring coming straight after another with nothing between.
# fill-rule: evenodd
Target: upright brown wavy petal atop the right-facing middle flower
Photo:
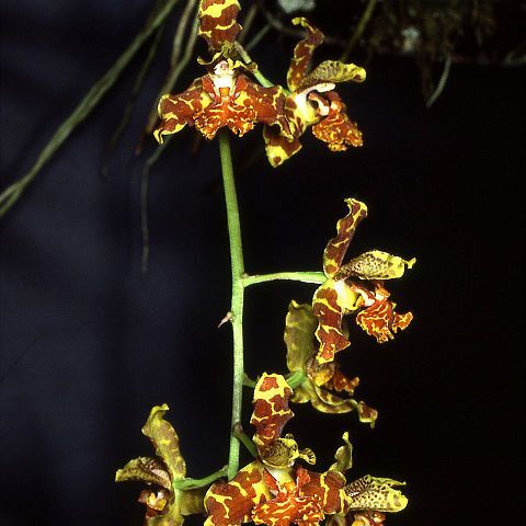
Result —
<instances>
[{"instance_id":1,"label":"upright brown wavy petal atop the right-facing middle flower","mask_svg":"<svg viewBox=\"0 0 526 526\"><path fill-rule=\"evenodd\" d=\"M347 248L359 222L367 217L367 206L357 199L345 199L348 214L336 224L338 236L331 239L323 252L323 272L333 277L340 270Z\"/></svg>"}]
</instances>

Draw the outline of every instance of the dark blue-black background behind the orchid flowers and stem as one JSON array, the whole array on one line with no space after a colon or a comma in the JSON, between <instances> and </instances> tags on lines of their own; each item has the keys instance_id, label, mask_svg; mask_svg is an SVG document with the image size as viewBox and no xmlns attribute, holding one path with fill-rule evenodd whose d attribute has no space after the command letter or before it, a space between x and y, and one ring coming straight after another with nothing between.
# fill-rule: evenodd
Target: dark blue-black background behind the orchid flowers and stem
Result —
<instances>
[{"instance_id":1,"label":"dark blue-black background behind the orchid flowers and stem","mask_svg":"<svg viewBox=\"0 0 526 526\"><path fill-rule=\"evenodd\" d=\"M32 165L149 9L147 0L2 0L2 186ZM329 27L330 13L318 23ZM107 179L101 159L140 61L0 224L2 526L140 524L139 487L113 478L151 453L140 427L153 404L169 403L190 476L226 461L230 330L216 327L230 271L217 142L192 153L195 136L184 130L155 167L150 268L140 272L145 158L133 149L170 38L168 31ZM253 55L283 81L293 44L274 35ZM381 347L355 329L341 353L344 370L362 378L357 398L380 411L376 428L296 405L287 431L324 467L348 430L350 478L407 480L410 506L388 524L472 524L479 514L482 524L515 524L524 484L524 70L455 66L428 111L412 61L378 58L367 73L339 90L363 149L330 153L307 134L304 150L272 170L260 132L233 146L249 272L321 270L347 196L369 207L352 254L381 248L418 258L391 286L400 311L414 312L410 329ZM196 75L187 70L178 87ZM312 291L283 283L248 290L251 376L285 371L287 304ZM248 401L245 423L249 414Z\"/></svg>"}]
</instances>

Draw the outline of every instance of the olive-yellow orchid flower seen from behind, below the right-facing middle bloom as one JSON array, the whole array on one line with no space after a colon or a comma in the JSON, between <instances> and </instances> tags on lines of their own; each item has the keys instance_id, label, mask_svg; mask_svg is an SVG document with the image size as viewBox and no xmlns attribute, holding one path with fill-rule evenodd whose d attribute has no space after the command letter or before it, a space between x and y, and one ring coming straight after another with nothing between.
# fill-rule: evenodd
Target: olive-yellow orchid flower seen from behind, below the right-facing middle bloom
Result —
<instances>
[{"instance_id":1,"label":"olive-yellow orchid flower seen from behind, below the right-facing middle bloom","mask_svg":"<svg viewBox=\"0 0 526 526\"><path fill-rule=\"evenodd\" d=\"M316 359L318 347L315 331L318 319L309 304L291 301L285 319L285 344L287 367L290 373L301 371L306 379L294 390L293 402L310 402L323 413L348 413L356 410L359 421L374 426L378 412L365 402L352 397L359 378L347 378L335 362L319 364ZM338 395L336 395L338 393ZM347 397L342 397L345 393Z\"/></svg>"}]
</instances>

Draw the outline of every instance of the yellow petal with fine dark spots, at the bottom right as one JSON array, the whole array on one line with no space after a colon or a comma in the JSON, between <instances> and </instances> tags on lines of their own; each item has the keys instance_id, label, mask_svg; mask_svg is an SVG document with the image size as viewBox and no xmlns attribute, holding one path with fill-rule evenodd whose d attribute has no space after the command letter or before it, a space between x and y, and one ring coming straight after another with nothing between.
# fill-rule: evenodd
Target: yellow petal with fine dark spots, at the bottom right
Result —
<instances>
[{"instance_id":1,"label":"yellow petal with fine dark spots, at the bottom right","mask_svg":"<svg viewBox=\"0 0 526 526\"><path fill-rule=\"evenodd\" d=\"M366 474L344 488L348 496L345 511L400 512L408 505L408 499L393 489L397 485L405 485L405 482Z\"/></svg>"}]
</instances>

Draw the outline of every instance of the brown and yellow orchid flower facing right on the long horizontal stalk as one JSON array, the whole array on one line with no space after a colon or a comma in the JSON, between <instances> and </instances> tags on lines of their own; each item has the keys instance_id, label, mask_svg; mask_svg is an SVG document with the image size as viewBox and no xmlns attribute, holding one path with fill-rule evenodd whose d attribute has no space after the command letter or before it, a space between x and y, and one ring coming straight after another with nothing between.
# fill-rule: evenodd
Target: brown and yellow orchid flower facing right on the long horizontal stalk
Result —
<instances>
[{"instance_id":1,"label":"brown and yellow orchid flower facing right on the long horizontal stalk","mask_svg":"<svg viewBox=\"0 0 526 526\"><path fill-rule=\"evenodd\" d=\"M323 272L327 281L316 290L312 311L318 318L316 338L320 343L319 364L334 359L335 353L351 342L342 331L343 317L364 308L357 317L358 325L379 343L393 338L405 329L413 315L399 315L384 288L385 279L401 277L405 267L411 268L415 259L403 260L379 250L367 251L347 263L343 259L359 222L367 217L367 206L357 199L345 199L348 214L338 221L336 237L331 239L323 253ZM370 288L371 287L371 288Z\"/></svg>"}]
</instances>

